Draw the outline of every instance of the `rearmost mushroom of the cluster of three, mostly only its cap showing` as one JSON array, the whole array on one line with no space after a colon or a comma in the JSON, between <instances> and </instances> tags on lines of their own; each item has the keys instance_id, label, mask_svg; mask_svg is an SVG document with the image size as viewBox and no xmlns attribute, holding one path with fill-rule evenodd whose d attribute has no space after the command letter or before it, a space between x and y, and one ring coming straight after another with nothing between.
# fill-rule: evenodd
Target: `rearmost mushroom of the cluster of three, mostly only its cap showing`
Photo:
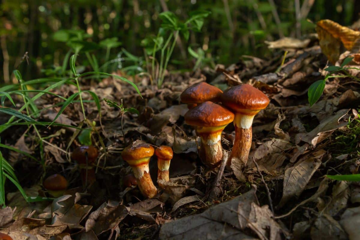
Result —
<instances>
[{"instance_id":1,"label":"rearmost mushroom of the cluster of three, mostly only its cap showing","mask_svg":"<svg viewBox=\"0 0 360 240\"><path fill-rule=\"evenodd\" d=\"M206 82L199 82L185 89L180 95L181 102L187 103L188 108L192 109L200 103L206 101L219 102L222 91Z\"/></svg>"}]
</instances>

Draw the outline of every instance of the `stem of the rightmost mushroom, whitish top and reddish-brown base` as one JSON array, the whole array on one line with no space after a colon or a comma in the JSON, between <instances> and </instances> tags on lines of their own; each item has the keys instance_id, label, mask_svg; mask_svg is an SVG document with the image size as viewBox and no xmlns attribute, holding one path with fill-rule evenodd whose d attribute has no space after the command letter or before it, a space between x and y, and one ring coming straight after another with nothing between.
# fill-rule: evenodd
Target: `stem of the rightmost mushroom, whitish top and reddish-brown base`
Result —
<instances>
[{"instance_id":1,"label":"stem of the rightmost mushroom, whitish top and reddish-brown base","mask_svg":"<svg viewBox=\"0 0 360 240\"><path fill-rule=\"evenodd\" d=\"M258 113L259 111L256 111ZM255 114L256 114L255 113ZM231 162L236 161L242 166L247 164L252 141L252 121L254 115L236 113L234 118L235 140L233 150L230 153L230 161L227 165L230 167Z\"/></svg>"}]
</instances>

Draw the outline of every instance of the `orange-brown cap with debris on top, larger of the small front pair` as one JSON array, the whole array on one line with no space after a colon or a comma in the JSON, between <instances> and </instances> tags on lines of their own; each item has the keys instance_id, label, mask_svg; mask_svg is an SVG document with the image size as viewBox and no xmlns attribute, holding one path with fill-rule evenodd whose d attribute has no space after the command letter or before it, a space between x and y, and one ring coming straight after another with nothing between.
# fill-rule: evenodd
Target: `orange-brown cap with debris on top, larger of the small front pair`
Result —
<instances>
[{"instance_id":1,"label":"orange-brown cap with debris on top, larger of the small front pair","mask_svg":"<svg viewBox=\"0 0 360 240\"><path fill-rule=\"evenodd\" d=\"M121 153L125 161L148 158L152 155L154 155L154 148L150 144L142 141L135 141L133 144L127 146Z\"/></svg>"}]
</instances>

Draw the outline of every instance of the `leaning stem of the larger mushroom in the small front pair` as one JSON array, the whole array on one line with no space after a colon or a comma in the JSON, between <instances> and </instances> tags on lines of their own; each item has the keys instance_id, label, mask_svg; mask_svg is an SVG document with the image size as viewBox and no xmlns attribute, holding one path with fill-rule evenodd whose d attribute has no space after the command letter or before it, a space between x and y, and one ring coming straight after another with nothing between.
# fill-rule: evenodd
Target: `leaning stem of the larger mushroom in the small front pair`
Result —
<instances>
[{"instance_id":1,"label":"leaning stem of the larger mushroom in the small front pair","mask_svg":"<svg viewBox=\"0 0 360 240\"><path fill-rule=\"evenodd\" d=\"M137 160L128 160L127 162L134 172L134 176L138 182L138 187L141 194L147 198L153 198L157 194L157 188L153 184L149 174L149 161L150 157Z\"/></svg>"}]
</instances>

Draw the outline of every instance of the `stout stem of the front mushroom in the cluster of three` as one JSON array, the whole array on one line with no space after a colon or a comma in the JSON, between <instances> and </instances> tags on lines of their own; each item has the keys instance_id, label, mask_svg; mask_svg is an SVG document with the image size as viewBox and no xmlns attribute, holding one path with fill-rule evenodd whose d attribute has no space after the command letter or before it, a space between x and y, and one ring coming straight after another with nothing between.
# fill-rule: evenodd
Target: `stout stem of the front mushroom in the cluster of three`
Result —
<instances>
[{"instance_id":1,"label":"stout stem of the front mushroom in the cluster of three","mask_svg":"<svg viewBox=\"0 0 360 240\"><path fill-rule=\"evenodd\" d=\"M220 164L222 158L221 132L227 126L197 127L197 134L201 138L200 158L211 168Z\"/></svg>"}]
</instances>

